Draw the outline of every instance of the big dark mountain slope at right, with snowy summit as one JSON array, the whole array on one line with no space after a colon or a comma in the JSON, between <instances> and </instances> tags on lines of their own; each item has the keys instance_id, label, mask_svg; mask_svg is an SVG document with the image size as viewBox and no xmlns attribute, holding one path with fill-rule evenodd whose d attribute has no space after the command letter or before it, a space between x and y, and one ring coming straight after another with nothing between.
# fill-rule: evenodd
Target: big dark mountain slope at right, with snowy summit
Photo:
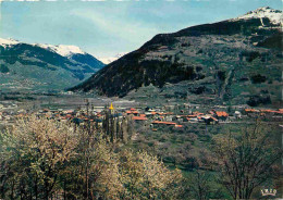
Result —
<instances>
[{"instance_id":1,"label":"big dark mountain slope at right, with snowy summit","mask_svg":"<svg viewBox=\"0 0 283 200\"><path fill-rule=\"evenodd\" d=\"M269 7L212 24L159 34L98 71L73 91L139 93L229 101L282 102L282 11Z\"/></svg>"}]
</instances>

